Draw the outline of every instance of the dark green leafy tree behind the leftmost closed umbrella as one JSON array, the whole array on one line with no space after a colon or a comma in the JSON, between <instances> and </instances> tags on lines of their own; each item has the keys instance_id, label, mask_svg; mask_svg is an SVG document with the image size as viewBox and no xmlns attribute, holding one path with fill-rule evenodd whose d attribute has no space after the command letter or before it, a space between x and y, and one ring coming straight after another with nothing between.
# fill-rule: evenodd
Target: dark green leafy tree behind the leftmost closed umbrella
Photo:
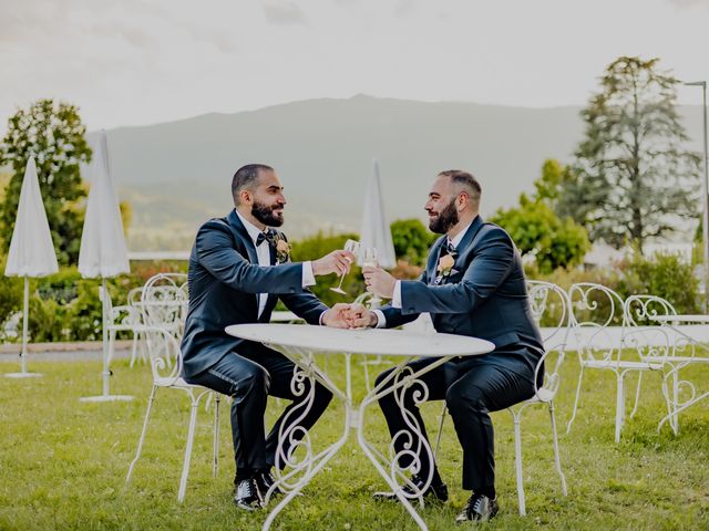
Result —
<instances>
[{"instance_id":1,"label":"dark green leafy tree behind the leftmost closed umbrella","mask_svg":"<svg viewBox=\"0 0 709 531\"><path fill-rule=\"evenodd\" d=\"M19 110L8 121L8 133L0 144L0 166L9 165L13 175L0 204L0 238L7 252L14 229L24 168L34 156L47 219L60 263L76 262L81 244L86 195L79 165L91 160L79 110L68 103L40 100Z\"/></svg>"}]
</instances>

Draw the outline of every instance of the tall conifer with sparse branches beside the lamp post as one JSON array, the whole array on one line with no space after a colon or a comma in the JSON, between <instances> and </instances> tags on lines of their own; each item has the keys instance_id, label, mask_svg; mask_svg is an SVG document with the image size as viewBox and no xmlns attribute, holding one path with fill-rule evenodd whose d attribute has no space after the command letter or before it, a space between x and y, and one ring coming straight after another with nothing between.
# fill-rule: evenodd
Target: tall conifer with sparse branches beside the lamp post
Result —
<instances>
[{"instance_id":1,"label":"tall conifer with sparse branches beside the lamp post","mask_svg":"<svg viewBox=\"0 0 709 531\"><path fill-rule=\"evenodd\" d=\"M559 200L592 239L616 248L633 242L641 250L696 216L699 156L681 147L688 137L675 107L678 81L657 65L624 56L606 69L602 91L582 112L577 173Z\"/></svg>"}]
</instances>

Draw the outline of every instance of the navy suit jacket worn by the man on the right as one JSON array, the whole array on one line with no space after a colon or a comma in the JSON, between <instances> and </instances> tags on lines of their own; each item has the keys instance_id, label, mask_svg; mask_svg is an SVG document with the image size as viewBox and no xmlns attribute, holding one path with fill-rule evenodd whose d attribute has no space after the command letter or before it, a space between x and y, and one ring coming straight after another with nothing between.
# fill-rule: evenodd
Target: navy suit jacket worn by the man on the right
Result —
<instances>
[{"instance_id":1,"label":"navy suit jacket worn by the man on the right","mask_svg":"<svg viewBox=\"0 0 709 531\"><path fill-rule=\"evenodd\" d=\"M534 371L544 347L530 311L522 259L512 238L477 216L456 248L454 272L435 284L445 239L431 247L419 280L401 282L402 308L382 309L387 326L429 312L438 332L491 341L495 351L486 358L504 365L505 356L522 357Z\"/></svg>"}]
</instances>

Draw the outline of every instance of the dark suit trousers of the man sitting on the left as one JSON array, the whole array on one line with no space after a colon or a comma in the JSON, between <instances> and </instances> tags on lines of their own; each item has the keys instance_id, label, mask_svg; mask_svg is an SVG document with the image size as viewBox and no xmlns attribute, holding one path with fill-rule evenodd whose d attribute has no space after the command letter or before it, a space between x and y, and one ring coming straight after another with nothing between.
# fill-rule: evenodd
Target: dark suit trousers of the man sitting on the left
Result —
<instances>
[{"instance_id":1,"label":"dark suit trousers of the man sitting on the left","mask_svg":"<svg viewBox=\"0 0 709 531\"><path fill-rule=\"evenodd\" d=\"M315 399L310 410L308 394L310 383L306 379L305 391L294 394L290 382L294 363L281 353L261 343L244 342L237 352L230 352L208 369L188 379L232 397L232 437L236 469L240 473L270 469L276 465L278 433L286 419L289 425L310 429L320 418L332 398L332 393L316 383ZM300 389L298 389L300 392ZM292 400L265 436L264 415L268 395ZM285 427L284 427L285 428ZM302 438L302 430L296 429L292 437L282 441L284 455ZM282 468L282 462L278 462Z\"/></svg>"}]
</instances>

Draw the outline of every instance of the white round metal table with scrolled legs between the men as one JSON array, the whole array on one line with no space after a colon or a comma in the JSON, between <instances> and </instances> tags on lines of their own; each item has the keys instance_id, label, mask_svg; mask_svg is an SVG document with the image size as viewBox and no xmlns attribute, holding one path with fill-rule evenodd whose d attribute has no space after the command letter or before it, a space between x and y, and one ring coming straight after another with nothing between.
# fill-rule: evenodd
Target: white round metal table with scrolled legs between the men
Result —
<instances>
[{"instance_id":1,"label":"white round metal table with scrolled legs between the men","mask_svg":"<svg viewBox=\"0 0 709 531\"><path fill-rule=\"evenodd\" d=\"M312 449L310 437L307 433L305 433L300 445L306 451L305 458L299 458L295 461L292 460L292 456L285 456L280 449L278 450L277 460L287 468L281 471L276 486L287 490L288 493L268 514L264 523L264 530L270 528L270 524L281 509L286 507L339 451L349 438L352 429L357 431L357 440L364 455L367 455L377 471L397 494L413 520L422 530L428 529L425 522L413 509L413 506L399 485L399 480L404 477L403 470L398 468L399 456L395 455L395 452L390 452L393 457L391 459L388 458L364 437L363 424L367 407L377 403L380 397L387 394L394 393L398 397L402 398L403 393L413 385L422 386L424 394L428 394L423 382L418 379L420 376L455 356L474 356L492 352L494 345L491 342L463 335L427 334L402 330L339 330L327 326L294 324L235 324L227 326L226 332L236 337L264 343L271 348L282 352L285 356L296 364L294 389L298 387L298 382L304 382L307 378L310 381L308 389L312 393L315 391L315 381L318 381L332 392L342 403L345 409L345 428L342 436L325 450L316 452ZM327 374L327 369L322 369L316 364L315 354L345 356L345 392L332 382ZM390 373L390 376L369 391L358 405L352 404L350 361L352 354L387 355L400 358L399 363ZM413 371L407 366L409 362L420 357L431 357L434 358L434 361L418 371ZM302 388L302 386L300 386L300 388ZM419 391L419 388L417 391ZM403 399L398 399L397 402L403 407ZM304 403L309 404L310 400L306 399ZM299 413L299 415L305 415L306 413L307 410ZM288 423L284 423L284 425L287 424ZM418 433L417 435L419 436L419 440L415 442L417 448L422 449L432 460L432 451L428 441L421 435L421 427L412 426L412 431L414 434ZM285 440L289 435L288 426L286 426L284 433L280 434L280 440ZM431 477L428 478L427 483L419 494L425 491L431 479ZM267 501L276 486L267 493ZM409 487L411 487L410 482ZM418 498L422 501L421 496Z\"/></svg>"}]
</instances>

